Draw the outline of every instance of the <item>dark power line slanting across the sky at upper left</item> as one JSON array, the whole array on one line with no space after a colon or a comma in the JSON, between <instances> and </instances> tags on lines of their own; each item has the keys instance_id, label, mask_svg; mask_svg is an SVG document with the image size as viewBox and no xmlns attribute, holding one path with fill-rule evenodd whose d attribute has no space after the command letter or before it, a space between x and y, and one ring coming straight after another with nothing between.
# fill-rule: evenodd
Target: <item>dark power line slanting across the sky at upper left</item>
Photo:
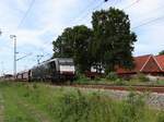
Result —
<instances>
[{"instance_id":1,"label":"dark power line slanting across the sky at upper left","mask_svg":"<svg viewBox=\"0 0 164 122\"><path fill-rule=\"evenodd\" d=\"M21 25L22 25L23 22L25 21L25 19L26 19L26 16L27 16L27 14L30 13L32 7L34 5L34 2L35 2L35 0L32 0L32 1L31 1L28 9L26 10L25 14L23 15L21 22L19 23L17 28L21 27Z\"/></svg>"}]
</instances>

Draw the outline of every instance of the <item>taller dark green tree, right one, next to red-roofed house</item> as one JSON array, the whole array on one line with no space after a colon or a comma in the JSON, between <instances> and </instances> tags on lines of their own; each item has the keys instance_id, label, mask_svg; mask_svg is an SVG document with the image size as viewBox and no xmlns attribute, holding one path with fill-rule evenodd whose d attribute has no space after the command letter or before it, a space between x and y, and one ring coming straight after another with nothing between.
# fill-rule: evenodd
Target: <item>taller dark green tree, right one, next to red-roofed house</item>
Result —
<instances>
[{"instance_id":1,"label":"taller dark green tree, right one, next to red-roofed house","mask_svg":"<svg viewBox=\"0 0 164 122\"><path fill-rule=\"evenodd\" d=\"M92 16L92 54L95 63L103 64L106 73L115 66L133 66L132 51L137 36L130 30L128 15L118 9L96 11Z\"/></svg>"}]
</instances>

